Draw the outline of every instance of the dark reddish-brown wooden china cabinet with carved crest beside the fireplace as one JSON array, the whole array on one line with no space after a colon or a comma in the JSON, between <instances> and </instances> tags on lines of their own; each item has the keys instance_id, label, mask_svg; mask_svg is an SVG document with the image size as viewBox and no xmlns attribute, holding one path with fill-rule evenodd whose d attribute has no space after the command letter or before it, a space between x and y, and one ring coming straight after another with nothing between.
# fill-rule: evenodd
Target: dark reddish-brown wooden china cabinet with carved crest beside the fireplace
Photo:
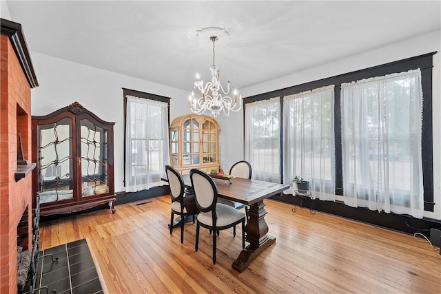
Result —
<instances>
[{"instance_id":1,"label":"dark reddish-brown wooden china cabinet with carved crest beside the fireplace","mask_svg":"<svg viewBox=\"0 0 441 294\"><path fill-rule=\"evenodd\" d=\"M115 212L113 126L78 102L32 116L33 207L72 213L108 203Z\"/></svg>"}]
</instances>

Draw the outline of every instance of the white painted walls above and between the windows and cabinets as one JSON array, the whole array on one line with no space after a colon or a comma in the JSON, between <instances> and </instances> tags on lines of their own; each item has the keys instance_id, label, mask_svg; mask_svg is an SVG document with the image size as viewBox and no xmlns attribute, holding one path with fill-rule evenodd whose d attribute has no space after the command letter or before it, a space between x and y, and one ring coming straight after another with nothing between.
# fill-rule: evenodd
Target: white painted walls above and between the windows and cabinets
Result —
<instances>
[{"instance_id":1,"label":"white painted walls above and between the windows and cabinets","mask_svg":"<svg viewBox=\"0 0 441 294\"><path fill-rule=\"evenodd\" d=\"M2 7L3 8L3 7ZM2 10L3 11L3 10ZM3 13L3 12L2 12ZM354 70L389 63L412 56L440 51L440 34L433 32L413 39L388 45L347 59L296 72L274 81L267 81L241 90L243 96L252 96L320 78L345 74ZM103 120L114 121L115 127L115 191L123 191L123 94L122 87L171 97L170 118L188 114L188 93L165 85L150 83L130 76L99 70L52 56L31 52L39 87L32 90L32 115L43 115L79 101ZM433 125L441 125L440 53L434 55L433 67ZM220 166L224 171L243 159L243 112L216 118L220 124ZM425 213L441 219L441 128L433 127L433 177L435 209Z\"/></svg>"}]
</instances>

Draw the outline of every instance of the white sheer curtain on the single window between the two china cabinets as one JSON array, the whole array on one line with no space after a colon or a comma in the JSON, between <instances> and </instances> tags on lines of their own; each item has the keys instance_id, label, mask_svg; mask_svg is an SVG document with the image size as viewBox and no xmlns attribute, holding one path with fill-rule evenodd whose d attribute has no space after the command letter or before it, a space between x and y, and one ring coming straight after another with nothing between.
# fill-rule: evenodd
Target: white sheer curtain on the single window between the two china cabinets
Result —
<instances>
[{"instance_id":1,"label":"white sheer curtain on the single window between the two china cabinets","mask_svg":"<svg viewBox=\"0 0 441 294\"><path fill-rule=\"evenodd\" d=\"M167 103L127 97L125 122L125 191L163 185L170 163Z\"/></svg>"}]
</instances>

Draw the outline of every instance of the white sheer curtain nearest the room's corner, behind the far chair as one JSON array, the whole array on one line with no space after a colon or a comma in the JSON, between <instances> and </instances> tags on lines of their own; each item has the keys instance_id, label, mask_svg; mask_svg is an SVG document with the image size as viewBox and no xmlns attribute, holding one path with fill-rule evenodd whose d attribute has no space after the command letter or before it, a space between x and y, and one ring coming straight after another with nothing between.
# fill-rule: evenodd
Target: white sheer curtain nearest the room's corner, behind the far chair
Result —
<instances>
[{"instance_id":1,"label":"white sheer curtain nearest the room's corner, behind the far chair","mask_svg":"<svg viewBox=\"0 0 441 294\"><path fill-rule=\"evenodd\" d=\"M245 160L252 178L280 183L280 98L245 105Z\"/></svg>"}]
</instances>

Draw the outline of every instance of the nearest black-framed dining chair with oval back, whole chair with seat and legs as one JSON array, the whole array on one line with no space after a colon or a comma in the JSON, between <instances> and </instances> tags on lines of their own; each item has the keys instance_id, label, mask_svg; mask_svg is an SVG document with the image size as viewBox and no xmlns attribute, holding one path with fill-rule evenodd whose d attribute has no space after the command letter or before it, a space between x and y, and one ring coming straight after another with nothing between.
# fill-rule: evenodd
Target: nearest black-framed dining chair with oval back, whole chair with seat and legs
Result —
<instances>
[{"instance_id":1,"label":"nearest black-framed dining chair with oval back, whole chair with seat and legs","mask_svg":"<svg viewBox=\"0 0 441 294\"><path fill-rule=\"evenodd\" d=\"M200 227L213 232L213 264L216 264L216 232L233 228L236 236L236 224L242 223L242 248L245 248L245 213L226 204L218 203L218 188L213 179L204 171L190 170L190 180L194 189L196 206L200 211L196 220L196 244L198 251Z\"/></svg>"}]
</instances>

